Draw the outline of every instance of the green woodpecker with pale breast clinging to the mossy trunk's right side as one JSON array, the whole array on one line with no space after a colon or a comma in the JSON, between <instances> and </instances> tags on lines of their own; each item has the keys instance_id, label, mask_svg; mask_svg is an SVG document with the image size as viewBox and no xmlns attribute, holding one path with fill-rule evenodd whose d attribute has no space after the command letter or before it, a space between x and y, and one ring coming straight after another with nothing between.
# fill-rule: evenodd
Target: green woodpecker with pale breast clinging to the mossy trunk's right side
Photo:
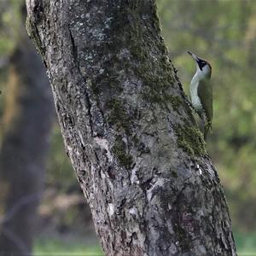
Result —
<instances>
[{"instance_id":1,"label":"green woodpecker with pale breast clinging to the mossy trunk's right side","mask_svg":"<svg viewBox=\"0 0 256 256\"><path fill-rule=\"evenodd\" d=\"M212 131L212 84L210 83L212 67L209 62L188 51L195 60L196 73L190 83L192 106L204 122L204 137L207 139L209 129Z\"/></svg>"}]
</instances>

